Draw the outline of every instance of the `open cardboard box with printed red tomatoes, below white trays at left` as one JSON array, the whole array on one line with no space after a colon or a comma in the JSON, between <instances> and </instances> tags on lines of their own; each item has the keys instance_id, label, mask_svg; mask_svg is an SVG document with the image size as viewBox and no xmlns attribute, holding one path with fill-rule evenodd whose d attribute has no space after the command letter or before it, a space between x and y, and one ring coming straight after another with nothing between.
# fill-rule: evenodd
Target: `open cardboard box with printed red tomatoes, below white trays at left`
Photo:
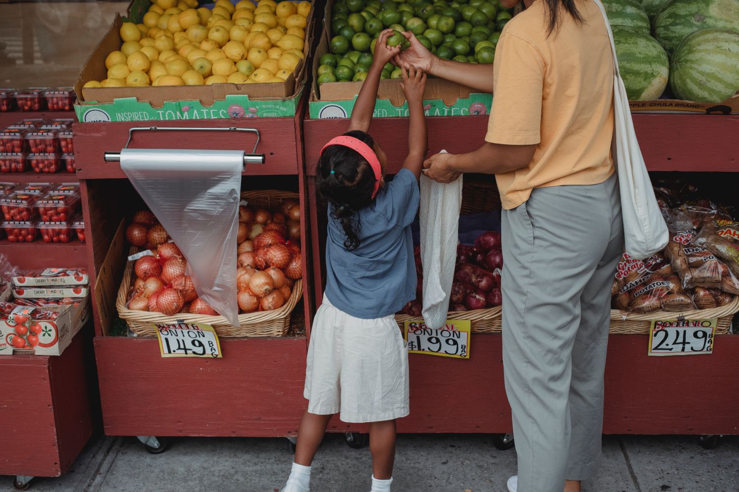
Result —
<instances>
[{"instance_id":1,"label":"open cardboard box with printed red tomatoes, below white trays at left","mask_svg":"<svg viewBox=\"0 0 739 492\"><path fill-rule=\"evenodd\" d=\"M0 356L10 355L11 353L60 356L64 349L72 343L72 338L89 319L90 302L89 297L85 297L80 300L77 306L49 306L39 309L57 311L60 315L53 321L40 320L35 322L38 326L33 329L29 328L27 334L38 333L38 344L33 349L14 349L9 341L16 335L17 325L10 319L0 320ZM34 324L31 325L31 327L33 326Z\"/></svg>"}]
</instances>

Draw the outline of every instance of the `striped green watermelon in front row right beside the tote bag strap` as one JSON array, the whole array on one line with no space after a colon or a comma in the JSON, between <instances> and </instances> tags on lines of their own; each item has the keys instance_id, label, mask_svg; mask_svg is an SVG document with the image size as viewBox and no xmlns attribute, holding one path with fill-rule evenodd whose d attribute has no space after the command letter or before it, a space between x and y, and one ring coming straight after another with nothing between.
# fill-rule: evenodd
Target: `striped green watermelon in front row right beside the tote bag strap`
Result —
<instances>
[{"instance_id":1,"label":"striped green watermelon in front row right beside the tote bag strap","mask_svg":"<svg viewBox=\"0 0 739 492\"><path fill-rule=\"evenodd\" d=\"M659 99L670 77L664 48L652 36L627 27L614 27L613 41L629 100Z\"/></svg>"}]
</instances>

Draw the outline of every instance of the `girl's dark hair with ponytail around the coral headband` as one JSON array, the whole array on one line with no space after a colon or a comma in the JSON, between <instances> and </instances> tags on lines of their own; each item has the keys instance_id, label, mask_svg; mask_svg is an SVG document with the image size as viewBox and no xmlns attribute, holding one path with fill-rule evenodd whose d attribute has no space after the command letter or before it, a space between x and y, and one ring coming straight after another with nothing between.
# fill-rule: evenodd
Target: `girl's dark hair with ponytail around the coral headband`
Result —
<instances>
[{"instance_id":1,"label":"girl's dark hair with ponytail around the coral headband","mask_svg":"<svg viewBox=\"0 0 739 492\"><path fill-rule=\"evenodd\" d=\"M373 148L375 141L364 131L349 131ZM333 172L332 172L333 171ZM321 153L318 166L317 189L321 198L332 205L331 217L341 222L344 229L344 247L353 251L359 247L361 223L357 212L372 203L375 190L375 172L358 152L344 145L331 145Z\"/></svg>"}]
</instances>

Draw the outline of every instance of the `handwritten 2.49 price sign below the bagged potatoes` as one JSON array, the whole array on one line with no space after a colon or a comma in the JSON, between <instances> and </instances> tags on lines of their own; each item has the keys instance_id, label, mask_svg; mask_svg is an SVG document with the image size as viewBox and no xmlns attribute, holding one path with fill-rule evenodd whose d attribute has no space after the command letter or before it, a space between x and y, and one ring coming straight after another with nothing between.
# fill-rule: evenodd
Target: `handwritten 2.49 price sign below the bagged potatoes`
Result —
<instances>
[{"instance_id":1,"label":"handwritten 2.49 price sign below the bagged potatoes","mask_svg":"<svg viewBox=\"0 0 739 492\"><path fill-rule=\"evenodd\" d=\"M713 353L717 318L655 319L649 333L650 356L697 356Z\"/></svg>"}]
</instances>

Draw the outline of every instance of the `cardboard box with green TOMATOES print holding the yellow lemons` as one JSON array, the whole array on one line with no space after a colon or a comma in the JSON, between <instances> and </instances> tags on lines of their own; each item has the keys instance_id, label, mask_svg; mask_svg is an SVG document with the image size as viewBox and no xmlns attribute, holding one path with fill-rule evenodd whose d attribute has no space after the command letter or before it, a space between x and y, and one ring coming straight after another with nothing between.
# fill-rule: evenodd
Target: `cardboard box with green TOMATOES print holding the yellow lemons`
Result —
<instances>
[{"instance_id":1,"label":"cardboard box with green TOMATOES print holding the yellow lemons","mask_svg":"<svg viewBox=\"0 0 739 492\"><path fill-rule=\"evenodd\" d=\"M78 96L75 112L81 122L295 116L307 73L304 60L282 83L83 89L89 80L106 78L105 58L120 49L120 25L126 20L140 21L150 4L149 0L134 0L126 19L116 14L110 29L82 67L75 83ZM312 19L311 11L304 52L312 41Z\"/></svg>"}]
</instances>

